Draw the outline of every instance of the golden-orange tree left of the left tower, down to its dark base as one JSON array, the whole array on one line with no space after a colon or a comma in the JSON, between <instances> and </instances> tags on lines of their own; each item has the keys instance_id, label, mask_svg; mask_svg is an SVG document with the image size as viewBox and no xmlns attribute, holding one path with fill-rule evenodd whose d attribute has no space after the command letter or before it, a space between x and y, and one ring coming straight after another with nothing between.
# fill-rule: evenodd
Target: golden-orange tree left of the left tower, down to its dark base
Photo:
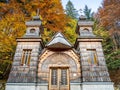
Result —
<instances>
[{"instance_id":1,"label":"golden-orange tree left of the left tower, down to its dark base","mask_svg":"<svg viewBox=\"0 0 120 90\"><path fill-rule=\"evenodd\" d=\"M10 4L10 5L9 5ZM8 77L16 47L16 37L21 37L25 31L24 14L19 4L0 3L0 79Z\"/></svg>"}]
</instances>

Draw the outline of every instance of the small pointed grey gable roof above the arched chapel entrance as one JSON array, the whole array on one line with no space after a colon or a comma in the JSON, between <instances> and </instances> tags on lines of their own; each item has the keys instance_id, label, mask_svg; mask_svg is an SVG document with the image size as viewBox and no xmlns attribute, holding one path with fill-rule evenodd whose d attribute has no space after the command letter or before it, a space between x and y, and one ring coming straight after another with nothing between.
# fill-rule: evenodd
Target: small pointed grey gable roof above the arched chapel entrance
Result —
<instances>
[{"instance_id":1,"label":"small pointed grey gable roof above the arched chapel entrance","mask_svg":"<svg viewBox=\"0 0 120 90\"><path fill-rule=\"evenodd\" d=\"M46 46L47 48L54 49L69 49L72 47L64 35L60 32L55 34L55 36L53 36L52 40Z\"/></svg>"}]
</instances>

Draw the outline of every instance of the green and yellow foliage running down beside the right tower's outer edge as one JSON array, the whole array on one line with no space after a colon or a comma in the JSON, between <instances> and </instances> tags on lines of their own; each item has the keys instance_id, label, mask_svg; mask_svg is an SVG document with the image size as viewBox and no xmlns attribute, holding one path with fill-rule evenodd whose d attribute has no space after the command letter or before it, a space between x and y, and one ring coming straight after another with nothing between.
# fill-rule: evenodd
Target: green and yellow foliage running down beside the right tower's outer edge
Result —
<instances>
[{"instance_id":1,"label":"green and yellow foliage running down beside the right tower's outer edge","mask_svg":"<svg viewBox=\"0 0 120 90\"><path fill-rule=\"evenodd\" d=\"M120 50L114 50L113 40L104 27L98 25L95 21L94 33L103 38L103 49L109 70L120 69Z\"/></svg>"}]
</instances>

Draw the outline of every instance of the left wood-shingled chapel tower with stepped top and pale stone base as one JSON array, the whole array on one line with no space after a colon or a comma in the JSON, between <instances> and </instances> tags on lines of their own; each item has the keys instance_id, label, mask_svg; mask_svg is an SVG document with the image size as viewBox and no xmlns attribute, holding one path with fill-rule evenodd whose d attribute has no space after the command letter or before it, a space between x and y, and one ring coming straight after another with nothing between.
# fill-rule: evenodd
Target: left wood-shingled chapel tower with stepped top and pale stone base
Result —
<instances>
[{"instance_id":1,"label":"left wood-shingled chapel tower with stepped top and pale stone base","mask_svg":"<svg viewBox=\"0 0 120 90\"><path fill-rule=\"evenodd\" d=\"M6 90L35 90L38 58L44 47L40 37L42 24L39 16L27 21L26 26L25 35L16 40L17 47Z\"/></svg>"}]
</instances>

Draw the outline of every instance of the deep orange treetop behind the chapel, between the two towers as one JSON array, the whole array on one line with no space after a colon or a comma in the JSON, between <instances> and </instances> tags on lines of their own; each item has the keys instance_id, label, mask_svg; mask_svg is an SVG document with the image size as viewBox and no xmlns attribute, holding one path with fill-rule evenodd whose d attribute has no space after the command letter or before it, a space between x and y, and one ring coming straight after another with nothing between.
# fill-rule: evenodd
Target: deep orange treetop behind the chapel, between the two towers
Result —
<instances>
[{"instance_id":1,"label":"deep orange treetop behind the chapel, between the two towers","mask_svg":"<svg viewBox=\"0 0 120 90\"><path fill-rule=\"evenodd\" d=\"M43 21L46 21L44 27L53 31L64 30L66 16L60 0L46 0L40 10Z\"/></svg>"}]
</instances>

